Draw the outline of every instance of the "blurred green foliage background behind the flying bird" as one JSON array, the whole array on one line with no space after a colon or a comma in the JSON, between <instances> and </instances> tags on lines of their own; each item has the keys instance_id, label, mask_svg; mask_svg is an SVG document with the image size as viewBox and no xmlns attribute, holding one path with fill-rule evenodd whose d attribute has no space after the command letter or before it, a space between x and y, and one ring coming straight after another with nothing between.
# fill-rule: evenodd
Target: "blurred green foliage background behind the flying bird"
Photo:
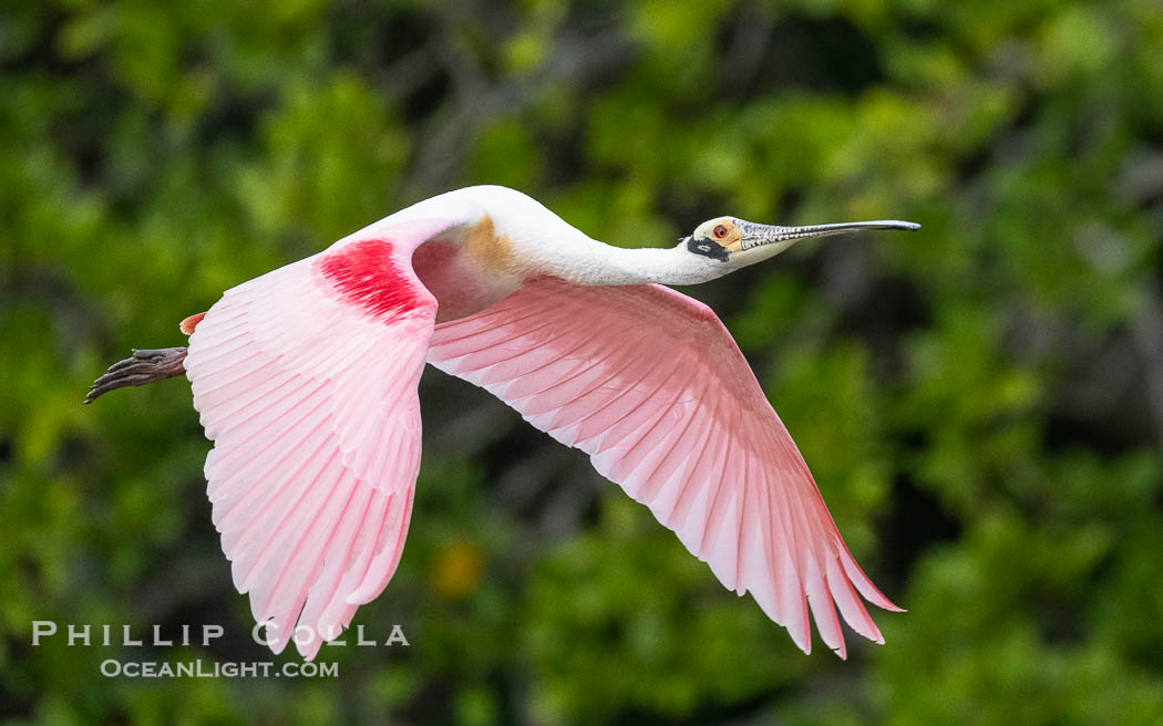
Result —
<instances>
[{"instance_id":1,"label":"blurred green foliage background behind the flying bird","mask_svg":"<svg viewBox=\"0 0 1163 726\"><path fill-rule=\"evenodd\" d=\"M430 371L402 565L356 617L411 647L102 677L270 656L187 384L87 383L477 182L628 246L723 214L925 225L685 290L908 609L875 613L887 645L800 654L583 454ZM1163 723L1157 0L8 1L0 236L5 723ZM228 635L34 648L35 619Z\"/></svg>"}]
</instances>

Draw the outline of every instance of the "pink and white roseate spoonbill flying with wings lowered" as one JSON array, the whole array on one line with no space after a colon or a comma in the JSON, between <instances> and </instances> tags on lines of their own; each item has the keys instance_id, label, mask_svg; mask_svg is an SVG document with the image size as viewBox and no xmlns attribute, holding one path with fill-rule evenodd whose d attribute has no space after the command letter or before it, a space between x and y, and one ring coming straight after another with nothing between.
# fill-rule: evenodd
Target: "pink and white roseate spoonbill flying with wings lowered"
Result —
<instances>
[{"instance_id":1,"label":"pink and white roseate spoonbill flying with wings lowered","mask_svg":"<svg viewBox=\"0 0 1163 726\"><path fill-rule=\"evenodd\" d=\"M727 329L662 285L714 280L808 237L918 228L725 216L677 246L626 250L520 192L458 189L227 290L183 321L188 347L135 351L86 402L186 374L214 441L214 525L255 618L277 626L276 653L295 634L313 657L391 580L427 361L588 453L805 653L811 609L844 657L836 608L877 642L859 596L899 608L849 554Z\"/></svg>"}]
</instances>

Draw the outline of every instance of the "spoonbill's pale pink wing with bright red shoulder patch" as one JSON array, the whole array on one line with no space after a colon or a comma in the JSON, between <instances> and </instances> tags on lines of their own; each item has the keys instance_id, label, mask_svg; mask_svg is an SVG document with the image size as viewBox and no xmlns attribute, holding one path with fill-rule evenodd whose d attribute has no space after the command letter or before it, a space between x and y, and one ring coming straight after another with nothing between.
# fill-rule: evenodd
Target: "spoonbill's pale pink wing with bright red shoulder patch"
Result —
<instances>
[{"instance_id":1,"label":"spoonbill's pale pink wing with bright red shoulder patch","mask_svg":"<svg viewBox=\"0 0 1163 726\"><path fill-rule=\"evenodd\" d=\"M240 285L190 338L214 525L276 653L294 635L313 657L395 572L436 319L411 256L452 225L355 236Z\"/></svg>"}]
</instances>

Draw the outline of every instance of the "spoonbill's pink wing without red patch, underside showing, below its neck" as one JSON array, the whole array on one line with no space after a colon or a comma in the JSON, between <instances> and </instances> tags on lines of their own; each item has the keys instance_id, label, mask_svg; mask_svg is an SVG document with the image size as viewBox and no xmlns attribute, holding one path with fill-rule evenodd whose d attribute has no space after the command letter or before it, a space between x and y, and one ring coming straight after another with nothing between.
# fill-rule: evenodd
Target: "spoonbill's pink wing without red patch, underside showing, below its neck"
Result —
<instances>
[{"instance_id":1,"label":"spoonbill's pink wing without red patch, underside showing, below its neck","mask_svg":"<svg viewBox=\"0 0 1163 726\"><path fill-rule=\"evenodd\" d=\"M847 655L833 601L856 632L884 641L856 592L899 608L856 565L804 458L706 306L657 285L543 279L437 325L428 361L588 453L726 587L750 590L805 653L811 606L825 644Z\"/></svg>"}]
</instances>

